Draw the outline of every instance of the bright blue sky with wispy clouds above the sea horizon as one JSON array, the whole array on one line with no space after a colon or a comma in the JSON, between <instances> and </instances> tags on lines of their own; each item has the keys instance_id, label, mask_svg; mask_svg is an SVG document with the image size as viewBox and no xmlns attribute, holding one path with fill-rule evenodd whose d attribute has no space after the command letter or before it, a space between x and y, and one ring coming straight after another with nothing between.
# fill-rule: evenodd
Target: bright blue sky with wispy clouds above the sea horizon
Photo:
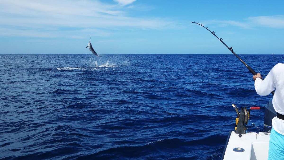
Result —
<instances>
[{"instance_id":1,"label":"bright blue sky with wispy clouds above the sea horizon","mask_svg":"<svg viewBox=\"0 0 284 160\"><path fill-rule=\"evenodd\" d=\"M0 54L284 54L284 1L1 0Z\"/></svg>"}]
</instances>

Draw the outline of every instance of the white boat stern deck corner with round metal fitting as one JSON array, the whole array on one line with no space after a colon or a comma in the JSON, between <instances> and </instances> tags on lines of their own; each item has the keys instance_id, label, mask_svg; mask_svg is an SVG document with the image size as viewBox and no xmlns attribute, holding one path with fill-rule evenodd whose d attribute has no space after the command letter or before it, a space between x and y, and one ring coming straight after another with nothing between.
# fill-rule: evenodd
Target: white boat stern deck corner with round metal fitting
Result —
<instances>
[{"instance_id":1,"label":"white boat stern deck corner with round metal fitting","mask_svg":"<svg viewBox=\"0 0 284 160\"><path fill-rule=\"evenodd\" d=\"M270 133L266 132L247 132L239 137L239 134L232 131L225 148L224 160L267 160L269 136Z\"/></svg>"}]
</instances>

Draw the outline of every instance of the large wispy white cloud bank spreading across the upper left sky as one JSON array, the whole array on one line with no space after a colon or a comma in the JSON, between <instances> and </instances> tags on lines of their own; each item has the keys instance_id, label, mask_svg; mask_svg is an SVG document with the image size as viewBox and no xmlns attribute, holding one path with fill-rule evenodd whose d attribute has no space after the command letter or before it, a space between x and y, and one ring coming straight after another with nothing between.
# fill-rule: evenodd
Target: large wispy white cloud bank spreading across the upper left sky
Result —
<instances>
[{"instance_id":1,"label":"large wispy white cloud bank spreading across the upper left sky","mask_svg":"<svg viewBox=\"0 0 284 160\"><path fill-rule=\"evenodd\" d=\"M134 0L117 0L120 5L110 5L100 1L90 0L1 0L0 1L0 26L2 30L11 36L43 36L54 37L66 32L77 30L83 32L90 29L92 35L110 35L116 28L127 29L164 29L175 27L171 20L149 17L136 18L127 15L124 7ZM51 32L49 28L55 31ZM62 29L63 28L63 29ZM108 31L106 31L106 28ZM57 30L57 33L56 33ZM25 31L25 33L20 33ZM74 32L75 33L75 32ZM76 33L78 34L78 33ZM2 33L3 35L3 33ZM80 35L74 35L78 37Z\"/></svg>"}]
</instances>

